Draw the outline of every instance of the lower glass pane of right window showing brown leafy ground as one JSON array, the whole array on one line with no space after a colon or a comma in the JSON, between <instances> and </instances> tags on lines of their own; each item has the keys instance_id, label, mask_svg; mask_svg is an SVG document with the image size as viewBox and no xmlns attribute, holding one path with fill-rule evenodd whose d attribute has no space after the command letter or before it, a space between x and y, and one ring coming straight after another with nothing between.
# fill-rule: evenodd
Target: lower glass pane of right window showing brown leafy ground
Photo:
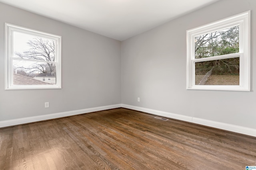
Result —
<instances>
[{"instance_id":1,"label":"lower glass pane of right window showing brown leafy ground","mask_svg":"<svg viewBox=\"0 0 256 170\"><path fill-rule=\"evenodd\" d=\"M239 57L195 63L195 85L239 85Z\"/></svg>"}]
</instances>

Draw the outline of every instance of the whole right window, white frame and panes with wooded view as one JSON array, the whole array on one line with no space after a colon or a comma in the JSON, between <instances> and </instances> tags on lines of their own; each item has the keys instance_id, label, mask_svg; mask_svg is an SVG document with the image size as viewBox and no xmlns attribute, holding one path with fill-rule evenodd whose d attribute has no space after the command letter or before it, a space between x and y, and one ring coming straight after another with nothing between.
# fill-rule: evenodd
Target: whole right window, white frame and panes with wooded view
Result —
<instances>
[{"instance_id":1,"label":"whole right window, white frame and panes with wooded view","mask_svg":"<svg viewBox=\"0 0 256 170\"><path fill-rule=\"evenodd\" d=\"M187 89L250 91L250 11L187 31Z\"/></svg>"}]
</instances>

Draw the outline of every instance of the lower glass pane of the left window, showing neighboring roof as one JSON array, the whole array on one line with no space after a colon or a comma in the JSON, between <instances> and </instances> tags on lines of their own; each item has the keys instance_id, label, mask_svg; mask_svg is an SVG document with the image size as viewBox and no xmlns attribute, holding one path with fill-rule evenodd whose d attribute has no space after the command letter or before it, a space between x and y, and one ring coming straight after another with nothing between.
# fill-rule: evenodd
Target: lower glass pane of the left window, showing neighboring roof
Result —
<instances>
[{"instance_id":1,"label":"lower glass pane of the left window, showing neighboring roof","mask_svg":"<svg viewBox=\"0 0 256 170\"><path fill-rule=\"evenodd\" d=\"M46 77L49 77L50 80L49 78L46 79ZM13 60L13 84L55 85L56 64Z\"/></svg>"}]
</instances>

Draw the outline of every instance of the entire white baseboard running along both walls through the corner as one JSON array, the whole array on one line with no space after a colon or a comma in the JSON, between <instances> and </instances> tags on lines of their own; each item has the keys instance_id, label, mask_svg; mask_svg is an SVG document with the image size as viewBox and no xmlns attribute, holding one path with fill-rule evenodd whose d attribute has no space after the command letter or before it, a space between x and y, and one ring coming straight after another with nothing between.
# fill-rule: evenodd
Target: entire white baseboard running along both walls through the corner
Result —
<instances>
[{"instance_id":1,"label":"entire white baseboard running along both walls through the corner","mask_svg":"<svg viewBox=\"0 0 256 170\"><path fill-rule=\"evenodd\" d=\"M24 117L24 118L20 118L20 119L0 121L0 127L21 125L21 124L25 124L25 123L44 121L44 120L49 120L49 119L56 119L56 118L60 118L60 117L79 115L79 114L90 113L90 112L94 112L94 111L114 109L114 108L118 108L118 107L124 107L127 109L143 111L143 112L150 113L153 115L169 117L172 119L178 119L178 120L182 120L182 121L196 123L199 125L205 125L205 126L209 126L209 127L214 127L214 128L218 128L218 129L223 129L223 130L227 130L227 131L232 131L232 132L256 137L256 129L251 129L251 128L242 127L242 126L236 126L236 125L231 125L231 124L221 123L221 122L216 122L216 121L210 121L210 120L200 119L200 118L196 118L196 117L184 116L184 115L179 115L179 114L174 114L174 113L169 113L169 112L164 112L164 111L159 111L159 110L154 110L154 109L148 109L148 108L144 108L144 107L131 106L131 105L126 105L126 104L116 104L116 105L110 105L110 106L92 107L92 108L88 108L88 109L65 111L65 112L61 112L61 113L53 113L53 114L48 114L48 115L40 115L40 116Z\"/></svg>"}]
</instances>

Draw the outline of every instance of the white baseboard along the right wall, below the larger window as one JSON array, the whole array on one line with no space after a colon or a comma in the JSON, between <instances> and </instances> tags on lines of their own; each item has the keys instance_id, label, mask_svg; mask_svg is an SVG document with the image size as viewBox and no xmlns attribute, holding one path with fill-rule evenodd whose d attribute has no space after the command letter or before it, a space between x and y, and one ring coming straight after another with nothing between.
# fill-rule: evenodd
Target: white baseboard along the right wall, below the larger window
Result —
<instances>
[{"instance_id":1,"label":"white baseboard along the right wall, below the larger window","mask_svg":"<svg viewBox=\"0 0 256 170\"><path fill-rule=\"evenodd\" d=\"M223 130L226 130L226 131L232 131L232 132L241 133L241 134L244 134L244 135L250 135L250 136L256 137L256 129L251 129L251 128L248 128L248 127L242 127L242 126L231 125L231 124L227 124L227 123L210 121L210 120L200 119L200 118L196 118L196 117L178 115L178 114L168 113L168 112L159 111L159 110L147 109L147 108L144 108L144 107L130 106L130 105L126 105L126 104L122 104L121 106L124 107L124 108L127 108L127 109L143 111L143 112L150 113L150 114L153 114L153 115L160 115L160 116L163 116L163 117L169 117L169 118L172 118L172 119L178 119L178 120L182 120L182 121L196 123L196 124L199 124L199 125L205 125L205 126L209 126L209 127L223 129Z\"/></svg>"}]
</instances>

